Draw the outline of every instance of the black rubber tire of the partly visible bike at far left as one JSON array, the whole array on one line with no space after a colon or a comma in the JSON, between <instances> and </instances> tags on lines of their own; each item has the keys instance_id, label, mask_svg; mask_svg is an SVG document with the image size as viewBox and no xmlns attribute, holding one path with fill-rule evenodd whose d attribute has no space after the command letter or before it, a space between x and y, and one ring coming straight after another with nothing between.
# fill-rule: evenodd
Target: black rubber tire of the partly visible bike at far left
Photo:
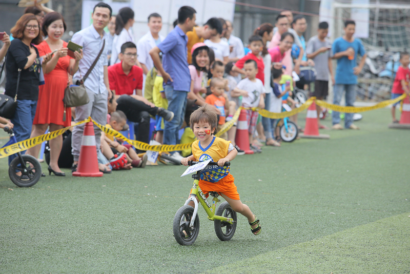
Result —
<instances>
[{"instance_id":1,"label":"black rubber tire of the partly visible bike at far left","mask_svg":"<svg viewBox=\"0 0 410 274\"><path fill-rule=\"evenodd\" d=\"M40 163L37 161L37 159L35 159L34 156L29 155L29 154L24 154L22 155L24 163L30 163L33 165L33 170L35 170L35 172L32 173L33 177L28 180L28 181L22 181L21 176L17 176L15 173L15 170L17 169L21 169L19 167L17 167L20 164L20 159L17 156L16 158L14 158L9 166L9 177L10 180L19 187L30 187L35 185L41 178L42 176L42 166L40 165ZM30 166L30 165L29 165Z\"/></svg>"}]
</instances>

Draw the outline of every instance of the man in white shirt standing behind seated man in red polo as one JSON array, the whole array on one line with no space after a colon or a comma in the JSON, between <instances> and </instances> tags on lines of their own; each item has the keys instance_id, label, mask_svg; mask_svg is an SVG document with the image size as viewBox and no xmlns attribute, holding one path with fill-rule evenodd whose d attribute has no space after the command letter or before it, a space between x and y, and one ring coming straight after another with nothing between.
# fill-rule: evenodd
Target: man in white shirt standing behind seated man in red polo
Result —
<instances>
[{"instance_id":1,"label":"man in white shirt standing behind seated man in red polo","mask_svg":"<svg viewBox=\"0 0 410 274\"><path fill-rule=\"evenodd\" d=\"M144 75L147 75L154 67L150 50L159 45L165 38L159 34L162 28L162 18L158 13L152 13L148 16L148 27L150 31L142 36L137 43L138 61L141 64Z\"/></svg>"}]
</instances>

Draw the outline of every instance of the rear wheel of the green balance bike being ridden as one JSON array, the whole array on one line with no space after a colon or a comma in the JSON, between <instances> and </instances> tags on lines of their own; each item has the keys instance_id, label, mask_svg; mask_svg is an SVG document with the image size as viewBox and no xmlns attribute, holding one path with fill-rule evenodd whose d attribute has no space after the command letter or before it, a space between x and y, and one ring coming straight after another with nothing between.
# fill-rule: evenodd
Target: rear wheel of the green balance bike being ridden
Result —
<instances>
[{"instance_id":1,"label":"rear wheel of the green balance bike being ridden","mask_svg":"<svg viewBox=\"0 0 410 274\"><path fill-rule=\"evenodd\" d=\"M234 219L233 224L220 220L214 220L215 233L219 240L231 240L232 237L234 237L236 230L236 212L231 208L228 202L223 202L216 209L215 215Z\"/></svg>"}]
</instances>

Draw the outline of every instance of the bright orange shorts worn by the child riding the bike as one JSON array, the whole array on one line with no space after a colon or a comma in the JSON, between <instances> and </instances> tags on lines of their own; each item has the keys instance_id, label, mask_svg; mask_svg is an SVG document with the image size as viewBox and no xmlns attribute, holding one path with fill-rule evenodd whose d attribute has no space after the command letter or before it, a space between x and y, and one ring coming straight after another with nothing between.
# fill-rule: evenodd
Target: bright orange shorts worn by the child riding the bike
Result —
<instances>
[{"instance_id":1,"label":"bright orange shorts worn by the child riding the bike","mask_svg":"<svg viewBox=\"0 0 410 274\"><path fill-rule=\"evenodd\" d=\"M234 177L229 173L216 183L199 180L199 187L202 190L205 197L208 198L208 192L215 191L220 195L221 193L227 195L232 200L240 200L239 193L236 190L234 183Z\"/></svg>"}]
</instances>

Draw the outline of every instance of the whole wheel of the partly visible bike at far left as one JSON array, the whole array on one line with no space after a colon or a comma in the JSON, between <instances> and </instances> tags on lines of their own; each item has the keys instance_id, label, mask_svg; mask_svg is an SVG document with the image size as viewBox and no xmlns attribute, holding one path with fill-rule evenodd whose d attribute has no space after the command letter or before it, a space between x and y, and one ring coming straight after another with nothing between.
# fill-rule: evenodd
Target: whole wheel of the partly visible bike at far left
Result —
<instances>
[{"instance_id":1,"label":"whole wheel of the partly visible bike at far left","mask_svg":"<svg viewBox=\"0 0 410 274\"><path fill-rule=\"evenodd\" d=\"M20 163L17 156L11 161L9 166L10 180L19 187L29 187L35 185L42 175L42 166L35 157L24 154L22 155L24 165ZM20 175L16 173L21 173Z\"/></svg>"}]
</instances>

